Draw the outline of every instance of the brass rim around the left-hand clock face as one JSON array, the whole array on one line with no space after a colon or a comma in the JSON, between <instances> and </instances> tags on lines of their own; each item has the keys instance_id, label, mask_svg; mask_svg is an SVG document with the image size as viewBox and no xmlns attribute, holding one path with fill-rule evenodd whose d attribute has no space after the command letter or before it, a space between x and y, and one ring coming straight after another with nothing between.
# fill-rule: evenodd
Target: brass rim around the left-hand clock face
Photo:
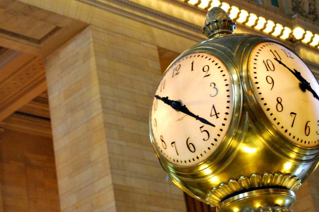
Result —
<instances>
[{"instance_id":1,"label":"brass rim around the left-hand clock face","mask_svg":"<svg viewBox=\"0 0 319 212\"><path fill-rule=\"evenodd\" d=\"M229 118L231 119L228 123L227 126L227 130L226 133L224 134L224 137L222 139L220 139L219 141L219 145L217 147L217 149L215 151L213 151L212 153L210 153L210 155L196 163L196 164L192 164L192 165L188 165L188 166L181 166L178 164L174 164L171 161L169 161L162 153L160 153L161 151L158 149L158 147L156 146L156 142L153 138L153 134L152 134L152 120L151 120L151 114L152 114L152 107L150 109L150 115L149 115L149 130L150 130L150 138L151 138L151 143L153 145L153 148L156 152L156 155L158 158L160 158L160 161L162 163L164 163L164 167L168 167L169 169L174 169L175 171L178 171L180 173L185 173L185 172L190 172L190 173L194 173L194 172L198 172L201 171L209 166L212 166L212 164L214 163L214 166L217 165L217 161L220 161L221 158L223 157L229 157L229 155L231 154L229 151L229 148L232 147L234 148L235 145L233 145L233 138L235 135L235 131L238 129L238 121L240 120L240 118L238 118L241 114L241 100L242 100L242 93L241 91L241 83L239 82L239 77L238 77L238 71L236 71L235 65L233 64L233 62L222 52L218 51L218 55L213 54L212 52L214 51L218 51L215 50L214 48L210 47L202 47L202 48L194 48L192 50L189 51L185 51L184 53L182 53L179 57L177 57L172 63L171 65L168 66L168 68L166 69L166 71L164 72L164 74L162 75L160 82L157 84L155 91L158 89L158 87L161 84L161 81L163 80L163 78L165 77L165 75L167 74L167 72L170 70L171 67L174 66L175 63L177 63L179 60L181 60L183 57L187 57L187 55L191 55L191 54L201 54L201 53L205 53L205 54L209 54L212 57L217 58L225 67L225 71L228 72L229 77L230 77L230 88L232 89L232 114L231 116L229 115ZM226 62L225 62L226 61ZM224 94L226 96L226 94ZM152 104L153 106L153 101ZM207 108L211 107L211 105L207 105ZM173 110L173 109L172 109ZM195 119L194 119L195 120ZM195 120L198 121L198 120ZM225 140L229 141L229 142L224 142ZM223 153L224 152L224 153Z\"/></svg>"}]
</instances>

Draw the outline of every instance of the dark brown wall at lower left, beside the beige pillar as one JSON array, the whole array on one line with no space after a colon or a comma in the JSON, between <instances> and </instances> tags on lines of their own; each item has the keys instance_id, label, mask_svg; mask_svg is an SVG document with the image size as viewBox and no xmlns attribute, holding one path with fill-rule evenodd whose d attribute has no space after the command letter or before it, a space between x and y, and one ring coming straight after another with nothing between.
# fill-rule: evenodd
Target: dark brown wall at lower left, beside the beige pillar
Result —
<instances>
[{"instance_id":1,"label":"dark brown wall at lower left, beside the beige pillar","mask_svg":"<svg viewBox=\"0 0 319 212\"><path fill-rule=\"evenodd\" d=\"M0 133L0 211L60 211L52 140Z\"/></svg>"}]
</instances>

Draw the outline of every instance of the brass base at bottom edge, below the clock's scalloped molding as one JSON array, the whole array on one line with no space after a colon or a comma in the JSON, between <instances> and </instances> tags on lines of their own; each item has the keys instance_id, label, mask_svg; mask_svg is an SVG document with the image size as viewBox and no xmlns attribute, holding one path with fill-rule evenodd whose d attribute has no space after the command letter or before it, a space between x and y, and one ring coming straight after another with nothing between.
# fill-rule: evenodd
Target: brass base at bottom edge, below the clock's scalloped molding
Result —
<instances>
[{"instance_id":1,"label":"brass base at bottom edge, below the clock's scalloped molding","mask_svg":"<svg viewBox=\"0 0 319 212\"><path fill-rule=\"evenodd\" d=\"M258 189L229 197L218 205L217 211L292 211L289 208L295 203L295 201L295 193L288 189Z\"/></svg>"}]
</instances>

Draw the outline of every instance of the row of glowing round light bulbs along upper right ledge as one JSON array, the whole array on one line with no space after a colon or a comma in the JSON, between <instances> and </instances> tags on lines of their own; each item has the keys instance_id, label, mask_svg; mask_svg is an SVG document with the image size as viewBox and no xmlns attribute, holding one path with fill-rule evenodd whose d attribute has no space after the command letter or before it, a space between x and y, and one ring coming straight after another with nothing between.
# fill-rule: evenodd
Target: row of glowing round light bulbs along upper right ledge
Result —
<instances>
[{"instance_id":1,"label":"row of glowing round light bulbs along upper right ledge","mask_svg":"<svg viewBox=\"0 0 319 212\"><path fill-rule=\"evenodd\" d=\"M229 17L237 23L245 24L257 30L271 34L281 39L301 40L302 43L312 47L319 48L319 34L314 34L311 31L305 31L301 27L296 27L293 30L288 26L283 26L280 23L274 23L271 20L266 20L264 17L257 16L254 13L249 13L246 10L240 10L236 6L230 6L228 3L220 3L219 0L181 0L190 5L197 6L202 9L210 10L213 7L220 7L229 14Z\"/></svg>"}]
</instances>

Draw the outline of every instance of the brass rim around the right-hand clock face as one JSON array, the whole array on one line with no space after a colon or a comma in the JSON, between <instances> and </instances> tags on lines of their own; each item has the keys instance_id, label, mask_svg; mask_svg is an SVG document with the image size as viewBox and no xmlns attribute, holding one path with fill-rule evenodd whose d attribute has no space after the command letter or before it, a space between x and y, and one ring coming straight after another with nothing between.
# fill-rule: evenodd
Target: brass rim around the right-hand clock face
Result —
<instances>
[{"instance_id":1,"label":"brass rim around the right-hand clock face","mask_svg":"<svg viewBox=\"0 0 319 212\"><path fill-rule=\"evenodd\" d=\"M299 145L296 142L288 139L282 132L280 132L280 130L277 129L278 126L271 123L271 121L269 120L270 117L264 112L264 110L262 109L262 106L260 105L261 101L258 99L259 95L253 89L254 82L251 80L250 63L253 62L252 61L253 60L252 53L253 53L254 49L257 48L257 46L261 45L262 43L273 43L275 45L280 45L280 46L282 46L282 47L286 48L287 50L294 53L294 51L290 50L285 45L281 44L278 41L271 40L269 38L259 38L259 39L257 38L255 40L253 40L250 43L250 46L247 49L245 49L245 51L243 52L242 64L241 64L241 74L243 77L244 91L245 91L246 96L248 98L248 103L250 105L250 108L253 111L254 116L252 118L254 119L254 121L256 123L256 128L260 132L260 134L262 135L263 139L265 139L269 145L273 146L273 148L276 149L276 151L284 151L288 155L291 155L288 151L282 150L282 147L285 146L285 147L288 147L288 149L290 149L292 152L298 153L298 154L303 155L303 156L316 154L318 152L317 150L319 149L318 144L316 144L316 146L313 146L313 147L309 147L309 146L305 147L303 145ZM294 53L294 55L296 55L300 59L300 61L308 68L308 66L302 61L302 59L297 54ZM289 66L289 64L287 64L287 65ZM292 68L294 68L294 67L292 67ZM283 66L283 69L285 69L284 66ZM253 72L253 70L252 70L252 72ZM289 70L287 69L287 74L292 74L292 73L289 73ZM313 75L313 73L311 73L311 74ZM296 83L298 85L298 81L296 81ZM306 91L306 92L308 92L308 91ZM265 131L267 132L267 134L264 133ZM289 142L287 142L287 141L289 141Z\"/></svg>"}]
</instances>

